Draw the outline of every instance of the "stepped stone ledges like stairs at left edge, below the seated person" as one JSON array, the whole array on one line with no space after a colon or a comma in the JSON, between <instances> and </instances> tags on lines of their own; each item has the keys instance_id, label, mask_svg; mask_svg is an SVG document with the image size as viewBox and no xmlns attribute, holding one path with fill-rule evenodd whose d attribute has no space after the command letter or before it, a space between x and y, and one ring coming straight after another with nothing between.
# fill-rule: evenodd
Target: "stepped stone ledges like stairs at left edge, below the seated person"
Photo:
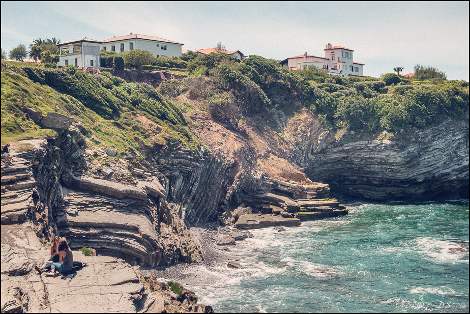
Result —
<instances>
[{"instance_id":1,"label":"stepped stone ledges like stairs at left edge, below the seated person","mask_svg":"<svg viewBox=\"0 0 470 314\"><path fill-rule=\"evenodd\" d=\"M12 163L5 167L2 162L2 225L21 223L28 211L34 210L36 180L32 178L30 161L15 157Z\"/></svg>"}]
</instances>

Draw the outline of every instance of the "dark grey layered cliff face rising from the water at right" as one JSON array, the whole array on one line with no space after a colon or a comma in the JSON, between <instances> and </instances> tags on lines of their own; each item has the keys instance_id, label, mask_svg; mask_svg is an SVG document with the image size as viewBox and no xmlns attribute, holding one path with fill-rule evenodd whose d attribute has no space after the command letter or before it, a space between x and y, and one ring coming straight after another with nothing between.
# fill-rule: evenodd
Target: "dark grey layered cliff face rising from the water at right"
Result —
<instances>
[{"instance_id":1,"label":"dark grey layered cliff face rising from the water at right","mask_svg":"<svg viewBox=\"0 0 470 314\"><path fill-rule=\"evenodd\" d=\"M468 197L468 122L446 120L400 140L335 140L307 111L289 121L289 160L336 195L369 201Z\"/></svg>"}]
</instances>

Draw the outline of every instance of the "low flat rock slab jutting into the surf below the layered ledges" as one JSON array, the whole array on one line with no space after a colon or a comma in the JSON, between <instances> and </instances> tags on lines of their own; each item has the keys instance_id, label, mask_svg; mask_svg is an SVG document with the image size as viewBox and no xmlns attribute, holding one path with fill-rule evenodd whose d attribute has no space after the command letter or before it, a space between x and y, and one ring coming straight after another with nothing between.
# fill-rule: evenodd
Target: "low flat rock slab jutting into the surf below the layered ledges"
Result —
<instances>
[{"instance_id":1,"label":"low flat rock slab jutting into the surf below the layered ledges","mask_svg":"<svg viewBox=\"0 0 470 314\"><path fill-rule=\"evenodd\" d=\"M240 216L234 227L239 229L258 229L281 225L292 227L300 224L301 221L297 218L283 218L268 214L246 214Z\"/></svg>"}]
</instances>

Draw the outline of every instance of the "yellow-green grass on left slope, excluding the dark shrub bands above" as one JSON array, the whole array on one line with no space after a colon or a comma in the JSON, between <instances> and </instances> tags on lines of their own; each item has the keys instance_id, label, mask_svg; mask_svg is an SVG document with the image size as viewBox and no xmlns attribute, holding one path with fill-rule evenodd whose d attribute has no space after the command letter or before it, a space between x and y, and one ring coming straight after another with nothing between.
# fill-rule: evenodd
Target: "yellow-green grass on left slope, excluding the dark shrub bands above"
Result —
<instances>
[{"instance_id":1,"label":"yellow-green grass on left slope, excluding the dark shrub bands above","mask_svg":"<svg viewBox=\"0 0 470 314\"><path fill-rule=\"evenodd\" d=\"M10 64L17 65L13 62ZM41 67L39 64L35 66ZM2 144L57 135L55 130L41 128L32 120L25 118L19 109L21 91L24 91L25 106L41 111L43 115L47 112L58 112L74 117L75 121L101 140L101 145L117 149L119 152L138 152L139 146L134 138L138 138L143 144L149 146L177 140L194 151L200 146L200 142L186 126L162 121L132 106L121 107L119 119L106 120L83 106L74 97L60 93L48 85L35 83L4 67L2 67ZM158 124L161 128L159 134L155 136L154 132L148 132L136 119L138 116L144 116Z\"/></svg>"}]
</instances>

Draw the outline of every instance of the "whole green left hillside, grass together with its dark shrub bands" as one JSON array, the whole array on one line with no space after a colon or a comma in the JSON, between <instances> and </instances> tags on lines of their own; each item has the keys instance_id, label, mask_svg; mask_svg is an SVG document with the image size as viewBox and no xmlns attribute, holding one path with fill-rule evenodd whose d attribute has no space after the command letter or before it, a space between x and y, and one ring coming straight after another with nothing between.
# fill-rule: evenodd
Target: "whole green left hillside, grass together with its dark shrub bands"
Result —
<instances>
[{"instance_id":1,"label":"whole green left hillside, grass together with its dark shrub bands","mask_svg":"<svg viewBox=\"0 0 470 314\"><path fill-rule=\"evenodd\" d=\"M2 143L57 136L38 126L19 109L21 91L25 105L43 115L58 112L72 116L96 135L101 144L121 154L139 154L140 145L172 145L180 142L198 152L201 142L189 131L178 105L163 98L145 83L125 83L108 72L84 73L70 66L49 69L44 65L16 67L19 62L2 62ZM158 136L142 127L148 119L160 127ZM137 156L136 156L137 157Z\"/></svg>"}]
</instances>

